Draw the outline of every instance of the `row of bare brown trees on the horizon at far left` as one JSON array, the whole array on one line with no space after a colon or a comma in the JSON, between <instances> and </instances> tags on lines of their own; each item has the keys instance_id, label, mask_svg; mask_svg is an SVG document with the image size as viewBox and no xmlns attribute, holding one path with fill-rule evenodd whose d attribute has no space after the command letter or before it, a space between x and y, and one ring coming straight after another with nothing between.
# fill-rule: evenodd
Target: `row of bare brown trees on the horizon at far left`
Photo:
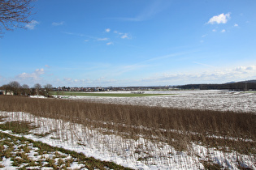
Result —
<instances>
[{"instance_id":1,"label":"row of bare brown trees on the horizon at far left","mask_svg":"<svg viewBox=\"0 0 256 170\"><path fill-rule=\"evenodd\" d=\"M1 87L2 90L7 92L13 92L15 96L50 96L50 91L52 90L53 86L51 84L46 84L41 87L40 83L36 83L33 87L29 87L28 84L20 85L17 81L12 81L8 84L5 84Z\"/></svg>"}]
</instances>

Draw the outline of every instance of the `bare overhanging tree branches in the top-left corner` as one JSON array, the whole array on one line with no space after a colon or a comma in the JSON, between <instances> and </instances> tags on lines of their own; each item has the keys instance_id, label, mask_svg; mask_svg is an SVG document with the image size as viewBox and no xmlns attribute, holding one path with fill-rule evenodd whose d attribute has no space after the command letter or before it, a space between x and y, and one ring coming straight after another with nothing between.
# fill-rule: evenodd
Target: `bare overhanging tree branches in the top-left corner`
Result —
<instances>
[{"instance_id":1,"label":"bare overhanging tree branches in the top-left corner","mask_svg":"<svg viewBox=\"0 0 256 170\"><path fill-rule=\"evenodd\" d=\"M24 28L24 23L30 23L33 0L0 0L0 33L2 30Z\"/></svg>"}]
</instances>

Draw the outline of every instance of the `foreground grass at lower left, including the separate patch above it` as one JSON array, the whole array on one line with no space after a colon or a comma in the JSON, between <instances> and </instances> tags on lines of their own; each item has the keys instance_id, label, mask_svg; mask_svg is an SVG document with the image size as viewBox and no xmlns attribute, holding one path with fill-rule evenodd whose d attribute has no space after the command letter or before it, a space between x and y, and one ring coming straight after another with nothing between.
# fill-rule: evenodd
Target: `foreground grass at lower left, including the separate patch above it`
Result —
<instances>
[{"instance_id":1,"label":"foreground grass at lower left, including the separate patch above it","mask_svg":"<svg viewBox=\"0 0 256 170\"><path fill-rule=\"evenodd\" d=\"M10 126L12 125L12 126ZM8 129L10 127L10 129ZM22 130L18 130L19 128ZM12 130L15 134L28 134L35 127L26 121L6 122L0 125L1 130ZM5 168L2 161L11 159L11 166L19 169L54 168L67 169L76 164L79 168L88 169L129 169L112 162L88 158L81 153L59 147L51 147L43 142L35 142L24 137L16 137L0 132L0 168Z\"/></svg>"}]
</instances>

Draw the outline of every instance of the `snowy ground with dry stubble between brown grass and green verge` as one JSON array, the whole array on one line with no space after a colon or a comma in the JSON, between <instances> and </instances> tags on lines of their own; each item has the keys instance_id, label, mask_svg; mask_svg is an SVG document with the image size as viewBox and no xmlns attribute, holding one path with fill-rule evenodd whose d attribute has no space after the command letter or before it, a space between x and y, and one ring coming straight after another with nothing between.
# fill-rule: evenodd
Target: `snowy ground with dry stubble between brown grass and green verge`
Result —
<instances>
[{"instance_id":1,"label":"snowy ground with dry stubble between brown grass and green verge","mask_svg":"<svg viewBox=\"0 0 256 170\"><path fill-rule=\"evenodd\" d=\"M128 168L135 169L202 169L203 161L222 164L223 168L238 169L238 163L244 168L255 166L255 155L240 155L234 152L223 153L215 148L206 148L196 144L189 152L176 151L163 142L151 142L145 138L137 140L121 138L114 134L101 134L99 130L72 122L34 117L29 113L0 112L0 116L7 117L5 121L30 121L39 128L31 130L32 134L24 135L34 141L45 142L54 147L82 152L96 159L112 161ZM4 122L5 122L4 121ZM2 123L4 123L2 122ZM11 134L10 131L5 133ZM38 137L36 134L47 134ZM33 156L37 160L37 156ZM0 164L13 168L8 159Z\"/></svg>"}]
</instances>

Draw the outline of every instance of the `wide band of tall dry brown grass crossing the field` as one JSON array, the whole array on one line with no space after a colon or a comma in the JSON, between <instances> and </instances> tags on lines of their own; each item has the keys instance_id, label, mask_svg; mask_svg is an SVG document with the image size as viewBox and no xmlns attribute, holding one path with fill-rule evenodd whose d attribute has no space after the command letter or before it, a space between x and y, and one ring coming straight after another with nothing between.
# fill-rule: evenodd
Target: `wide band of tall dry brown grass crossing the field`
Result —
<instances>
[{"instance_id":1,"label":"wide band of tall dry brown grass crossing the field","mask_svg":"<svg viewBox=\"0 0 256 170\"><path fill-rule=\"evenodd\" d=\"M256 154L256 114L99 104L78 100L0 96L0 110L32 113L98 128L125 138L167 142L180 151L192 142Z\"/></svg>"}]
</instances>

